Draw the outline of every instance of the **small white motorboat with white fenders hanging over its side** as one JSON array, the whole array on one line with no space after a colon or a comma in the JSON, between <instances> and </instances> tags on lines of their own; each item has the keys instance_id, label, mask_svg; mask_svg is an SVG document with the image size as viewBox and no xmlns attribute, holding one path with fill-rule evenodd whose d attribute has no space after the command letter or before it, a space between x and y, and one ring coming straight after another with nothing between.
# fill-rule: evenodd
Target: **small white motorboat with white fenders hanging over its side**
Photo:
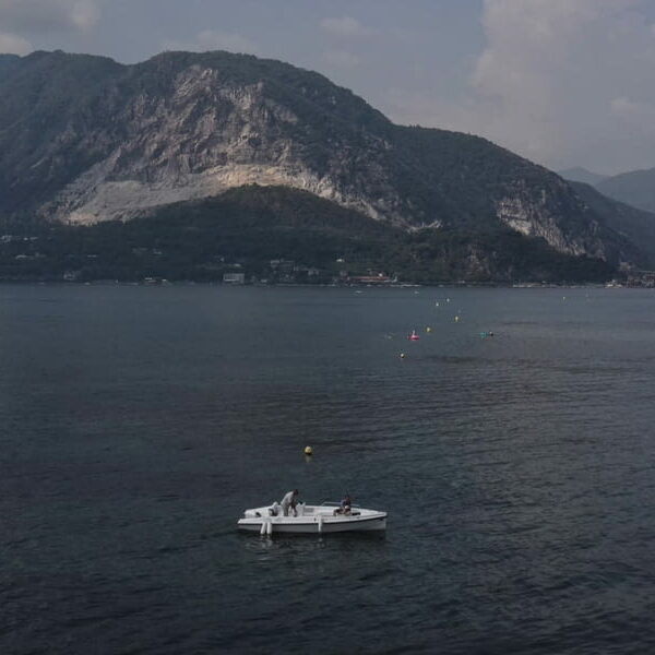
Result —
<instances>
[{"instance_id":1,"label":"small white motorboat with white fenders hanging over its side","mask_svg":"<svg viewBox=\"0 0 655 655\"><path fill-rule=\"evenodd\" d=\"M335 513L338 503L324 502L320 505L299 503L297 515L274 515L273 505L246 510L239 519L239 529L259 532L261 535L275 533L326 534L340 532L373 532L386 529L386 512L365 510L353 505L349 514Z\"/></svg>"}]
</instances>

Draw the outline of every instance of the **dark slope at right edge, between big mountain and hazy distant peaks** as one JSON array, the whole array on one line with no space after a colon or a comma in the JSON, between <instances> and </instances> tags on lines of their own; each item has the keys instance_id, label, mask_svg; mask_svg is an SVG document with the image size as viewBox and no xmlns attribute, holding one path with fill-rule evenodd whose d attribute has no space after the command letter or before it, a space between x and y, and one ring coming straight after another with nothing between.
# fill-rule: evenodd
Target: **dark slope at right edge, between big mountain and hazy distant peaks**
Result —
<instances>
[{"instance_id":1,"label":"dark slope at right edge, between big mountain and hazy distant peaks","mask_svg":"<svg viewBox=\"0 0 655 655\"><path fill-rule=\"evenodd\" d=\"M655 267L655 213L607 198L591 184L572 182L572 187L607 226L624 235L633 243L639 243L647 257L647 261L643 263L651 269Z\"/></svg>"}]
</instances>

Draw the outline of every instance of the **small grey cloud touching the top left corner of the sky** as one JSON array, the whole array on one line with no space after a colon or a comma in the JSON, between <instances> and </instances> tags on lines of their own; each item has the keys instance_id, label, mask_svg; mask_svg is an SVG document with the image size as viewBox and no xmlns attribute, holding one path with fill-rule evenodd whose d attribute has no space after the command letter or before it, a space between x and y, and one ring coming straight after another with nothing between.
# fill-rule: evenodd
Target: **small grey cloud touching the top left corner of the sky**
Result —
<instances>
[{"instance_id":1,"label":"small grey cloud touching the top left corner of the sky","mask_svg":"<svg viewBox=\"0 0 655 655\"><path fill-rule=\"evenodd\" d=\"M14 34L87 31L99 20L100 0L0 0L0 25Z\"/></svg>"}]
</instances>

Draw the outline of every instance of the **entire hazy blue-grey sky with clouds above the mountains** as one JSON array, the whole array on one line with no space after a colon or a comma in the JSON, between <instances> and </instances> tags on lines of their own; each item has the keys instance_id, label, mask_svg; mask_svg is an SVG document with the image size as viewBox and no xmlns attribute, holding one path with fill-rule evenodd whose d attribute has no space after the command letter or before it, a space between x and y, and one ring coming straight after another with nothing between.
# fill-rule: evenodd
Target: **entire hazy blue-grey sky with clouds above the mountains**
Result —
<instances>
[{"instance_id":1,"label":"entire hazy blue-grey sky with clouds above the mountains","mask_svg":"<svg viewBox=\"0 0 655 655\"><path fill-rule=\"evenodd\" d=\"M655 167L655 0L0 0L0 51L225 49L535 162Z\"/></svg>"}]
</instances>

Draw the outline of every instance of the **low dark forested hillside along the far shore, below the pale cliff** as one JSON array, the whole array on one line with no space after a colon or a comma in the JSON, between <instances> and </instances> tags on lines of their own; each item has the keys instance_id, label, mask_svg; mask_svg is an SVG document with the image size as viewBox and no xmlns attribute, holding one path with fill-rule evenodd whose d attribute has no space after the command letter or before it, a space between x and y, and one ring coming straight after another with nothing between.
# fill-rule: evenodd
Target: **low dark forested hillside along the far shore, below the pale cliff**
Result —
<instances>
[{"instance_id":1,"label":"low dark forested hillside along the far shore, below the pale cliff","mask_svg":"<svg viewBox=\"0 0 655 655\"><path fill-rule=\"evenodd\" d=\"M4 281L218 282L239 272L248 282L326 284L382 273L430 284L599 282L616 273L508 228L406 231L282 187L242 187L124 223L67 226L20 216L1 229Z\"/></svg>"}]
</instances>

